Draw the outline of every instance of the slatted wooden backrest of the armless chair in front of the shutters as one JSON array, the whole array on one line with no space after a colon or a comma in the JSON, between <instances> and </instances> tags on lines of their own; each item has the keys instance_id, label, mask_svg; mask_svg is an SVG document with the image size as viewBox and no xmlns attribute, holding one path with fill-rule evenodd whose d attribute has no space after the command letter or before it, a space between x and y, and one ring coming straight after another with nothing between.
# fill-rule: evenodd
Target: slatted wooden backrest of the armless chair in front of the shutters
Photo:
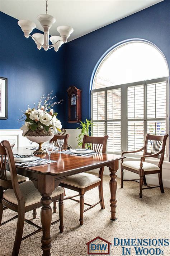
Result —
<instances>
[{"instance_id":1,"label":"slatted wooden backrest of the armless chair in front of the shutters","mask_svg":"<svg viewBox=\"0 0 170 256\"><path fill-rule=\"evenodd\" d=\"M82 149L85 149L85 147L87 146L88 149L92 149L95 152L100 152L102 147L102 153L106 153L108 137L108 135L105 135L104 137L93 137L84 135L82 141Z\"/></svg>"}]
</instances>

